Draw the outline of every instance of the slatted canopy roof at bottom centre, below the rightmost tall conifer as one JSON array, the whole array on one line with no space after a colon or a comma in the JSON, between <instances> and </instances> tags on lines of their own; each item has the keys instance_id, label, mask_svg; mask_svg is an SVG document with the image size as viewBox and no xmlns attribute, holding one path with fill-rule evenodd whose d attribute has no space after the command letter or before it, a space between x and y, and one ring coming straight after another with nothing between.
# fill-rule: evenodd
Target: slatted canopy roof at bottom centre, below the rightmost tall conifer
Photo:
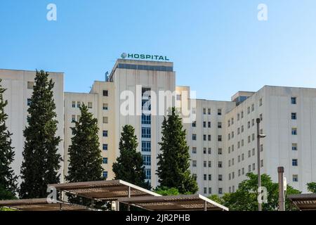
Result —
<instances>
[{"instance_id":1,"label":"slatted canopy roof at bottom centre, below the rightmost tall conifer","mask_svg":"<svg viewBox=\"0 0 316 225\"><path fill-rule=\"evenodd\" d=\"M228 207L215 203L203 195L119 198L119 202L126 205L134 205L150 211L228 211Z\"/></svg>"}]
</instances>

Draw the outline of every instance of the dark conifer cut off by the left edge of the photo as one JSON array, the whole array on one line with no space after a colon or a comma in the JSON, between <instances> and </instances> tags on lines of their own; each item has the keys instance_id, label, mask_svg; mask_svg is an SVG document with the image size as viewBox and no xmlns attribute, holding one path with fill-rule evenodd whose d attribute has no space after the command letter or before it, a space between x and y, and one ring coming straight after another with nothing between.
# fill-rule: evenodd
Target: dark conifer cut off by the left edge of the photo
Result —
<instances>
[{"instance_id":1,"label":"dark conifer cut off by the left edge of the photo","mask_svg":"<svg viewBox=\"0 0 316 225\"><path fill-rule=\"evenodd\" d=\"M11 147L12 134L6 127L8 115L4 113L4 108L8 105L8 101L4 100L4 91L6 89L0 84L0 200L15 198L17 191L17 176L11 168L15 153Z\"/></svg>"}]
</instances>

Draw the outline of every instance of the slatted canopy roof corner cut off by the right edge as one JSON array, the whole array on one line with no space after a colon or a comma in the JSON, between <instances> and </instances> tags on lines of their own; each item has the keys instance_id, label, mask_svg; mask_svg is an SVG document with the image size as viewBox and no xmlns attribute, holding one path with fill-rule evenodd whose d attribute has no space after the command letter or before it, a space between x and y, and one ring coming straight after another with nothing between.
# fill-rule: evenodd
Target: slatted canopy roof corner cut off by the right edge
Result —
<instances>
[{"instance_id":1,"label":"slatted canopy roof corner cut off by the right edge","mask_svg":"<svg viewBox=\"0 0 316 225\"><path fill-rule=\"evenodd\" d=\"M316 194L297 194L287 196L298 210L316 210Z\"/></svg>"}]
</instances>

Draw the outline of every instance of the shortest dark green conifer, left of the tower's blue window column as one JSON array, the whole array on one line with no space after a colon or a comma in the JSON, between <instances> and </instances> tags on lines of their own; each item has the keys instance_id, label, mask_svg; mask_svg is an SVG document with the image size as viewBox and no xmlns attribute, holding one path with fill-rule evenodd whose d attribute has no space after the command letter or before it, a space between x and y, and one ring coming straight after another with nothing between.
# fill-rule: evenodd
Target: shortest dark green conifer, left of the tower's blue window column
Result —
<instances>
[{"instance_id":1,"label":"shortest dark green conifer, left of the tower's blue window column","mask_svg":"<svg viewBox=\"0 0 316 225\"><path fill-rule=\"evenodd\" d=\"M143 157L137 151L138 141L135 129L131 125L125 125L119 141L119 157L113 164L115 179L121 179L131 184L150 189L150 184L145 181L145 167Z\"/></svg>"}]
</instances>

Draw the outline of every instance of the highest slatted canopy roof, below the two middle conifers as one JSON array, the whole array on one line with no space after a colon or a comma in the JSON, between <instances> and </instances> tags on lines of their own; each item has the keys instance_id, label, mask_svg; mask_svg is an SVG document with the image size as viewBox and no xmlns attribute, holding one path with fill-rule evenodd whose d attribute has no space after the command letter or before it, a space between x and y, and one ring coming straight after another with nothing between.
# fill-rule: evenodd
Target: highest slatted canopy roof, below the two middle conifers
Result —
<instances>
[{"instance_id":1,"label":"highest slatted canopy roof, below the two middle conifers","mask_svg":"<svg viewBox=\"0 0 316 225\"><path fill-rule=\"evenodd\" d=\"M121 180L48 184L48 187L54 187L57 191L72 193L91 200L117 201L124 197L161 196Z\"/></svg>"}]
</instances>

